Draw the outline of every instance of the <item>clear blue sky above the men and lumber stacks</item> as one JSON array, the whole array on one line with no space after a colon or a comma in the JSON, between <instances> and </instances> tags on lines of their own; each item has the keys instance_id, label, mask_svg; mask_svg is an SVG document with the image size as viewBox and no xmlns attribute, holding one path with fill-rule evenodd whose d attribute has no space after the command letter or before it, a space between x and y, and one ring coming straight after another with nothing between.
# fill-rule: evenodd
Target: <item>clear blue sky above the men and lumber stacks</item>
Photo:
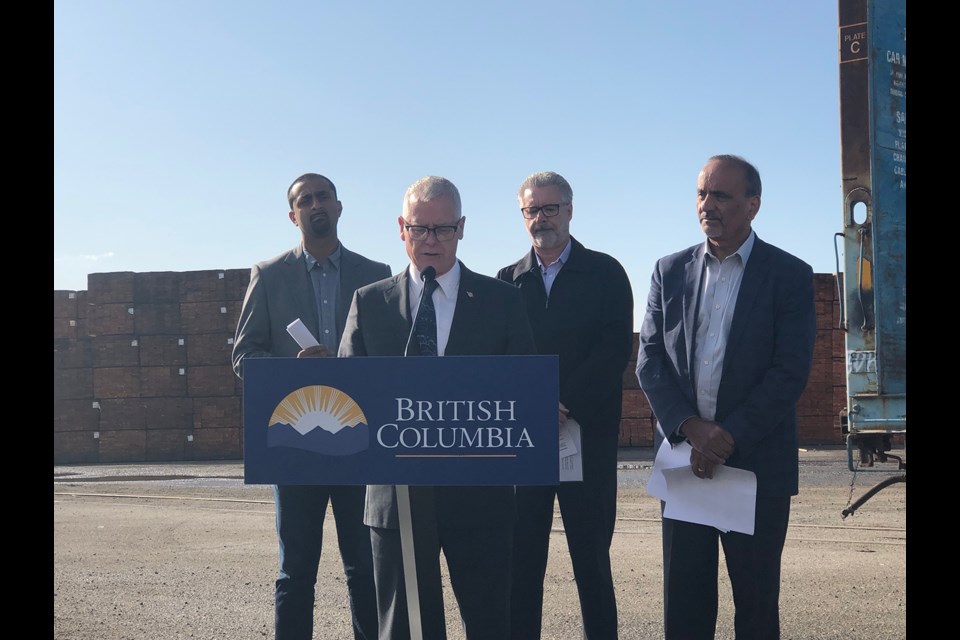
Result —
<instances>
[{"instance_id":1,"label":"clear blue sky above the men and lumber stacks","mask_svg":"<svg viewBox=\"0 0 960 640\"><path fill-rule=\"evenodd\" d=\"M493 275L529 249L520 182L553 170L639 317L656 259L702 241L716 153L759 168L758 235L832 273L838 96L835 0L57 0L53 285L249 268L298 242L308 171L394 272L404 190L450 178L459 256Z\"/></svg>"}]
</instances>

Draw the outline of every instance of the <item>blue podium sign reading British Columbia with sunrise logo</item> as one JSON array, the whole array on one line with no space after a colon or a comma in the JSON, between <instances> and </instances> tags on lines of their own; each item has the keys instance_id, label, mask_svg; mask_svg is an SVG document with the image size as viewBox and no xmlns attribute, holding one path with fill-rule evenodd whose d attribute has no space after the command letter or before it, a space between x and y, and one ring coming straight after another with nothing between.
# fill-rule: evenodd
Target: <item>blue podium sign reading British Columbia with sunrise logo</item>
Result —
<instances>
[{"instance_id":1,"label":"blue podium sign reading British Columbia with sunrise logo","mask_svg":"<svg viewBox=\"0 0 960 640\"><path fill-rule=\"evenodd\" d=\"M248 358L246 484L558 484L557 356Z\"/></svg>"}]
</instances>

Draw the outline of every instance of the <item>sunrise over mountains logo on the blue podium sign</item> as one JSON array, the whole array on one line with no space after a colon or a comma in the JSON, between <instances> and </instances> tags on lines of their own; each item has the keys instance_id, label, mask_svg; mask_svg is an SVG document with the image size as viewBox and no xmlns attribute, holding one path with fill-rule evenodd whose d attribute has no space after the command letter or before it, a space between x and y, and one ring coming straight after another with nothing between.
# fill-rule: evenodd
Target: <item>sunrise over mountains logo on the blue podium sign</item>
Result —
<instances>
[{"instance_id":1,"label":"sunrise over mountains logo on the blue podium sign","mask_svg":"<svg viewBox=\"0 0 960 640\"><path fill-rule=\"evenodd\" d=\"M273 410L267 427L268 447L348 456L370 446L360 405L333 387L313 385L290 393Z\"/></svg>"}]
</instances>

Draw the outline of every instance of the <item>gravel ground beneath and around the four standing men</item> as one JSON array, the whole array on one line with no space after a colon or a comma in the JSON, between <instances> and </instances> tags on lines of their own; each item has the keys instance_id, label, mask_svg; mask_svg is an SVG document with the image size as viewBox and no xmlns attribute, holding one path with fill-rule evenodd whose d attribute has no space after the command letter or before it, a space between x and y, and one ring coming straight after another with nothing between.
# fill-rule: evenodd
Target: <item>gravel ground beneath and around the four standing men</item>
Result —
<instances>
[{"instance_id":1,"label":"gravel ground beneath and around the four standing men","mask_svg":"<svg viewBox=\"0 0 960 640\"><path fill-rule=\"evenodd\" d=\"M900 453L903 452L894 452ZM625 450L612 558L623 640L660 638L659 503L643 489L652 452ZM784 638L905 638L906 484L851 517L841 510L893 464L853 474L846 451L801 451L783 557ZM854 486L851 490L851 482ZM273 637L277 544L269 487L229 463L54 467L54 623L62 640ZM328 514L315 637L348 639L346 587ZM582 637L559 514L545 581L543 640ZM451 640L463 635L445 576ZM718 639L733 638L721 572Z\"/></svg>"}]
</instances>

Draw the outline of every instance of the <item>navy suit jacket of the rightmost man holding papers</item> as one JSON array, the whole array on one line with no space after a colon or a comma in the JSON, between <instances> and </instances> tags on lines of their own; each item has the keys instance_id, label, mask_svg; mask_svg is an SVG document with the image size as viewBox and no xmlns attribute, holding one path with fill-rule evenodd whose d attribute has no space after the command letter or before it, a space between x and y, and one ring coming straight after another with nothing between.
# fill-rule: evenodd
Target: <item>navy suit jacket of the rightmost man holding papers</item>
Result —
<instances>
[{"instance_id":1,"label":"navy suit jacket of the rightmost man holding papers","mask_svg":"<svg viewBox=\"0 0 960 640\"><path fill-rule=\"evenodd\" d=\"M691 357L704 244L661 258L640 329L637 378L664 434L697 416ZM756 238L727 338L715 420L734 439L727 465L757 475L759 496L797 494L796 404L816 337L813 270Z\"/></svg>"}]
</instances>

